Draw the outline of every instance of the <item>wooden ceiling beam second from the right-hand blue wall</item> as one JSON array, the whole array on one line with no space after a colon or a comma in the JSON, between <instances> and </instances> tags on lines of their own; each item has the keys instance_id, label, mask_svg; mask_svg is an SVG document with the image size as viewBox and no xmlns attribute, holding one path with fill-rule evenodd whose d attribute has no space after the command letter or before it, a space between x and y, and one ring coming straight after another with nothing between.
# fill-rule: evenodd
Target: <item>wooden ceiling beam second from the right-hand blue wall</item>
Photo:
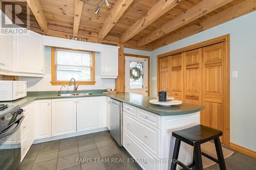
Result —
<instances>
[{"instance_id":1,"label":"wooden ceiling beam second from the right-hand blue wall","mask_svg":"<svg viewBox=\"0 0 256 170\"><path fill-rule=\"evenodd\" d=\"M185 13L177 16L173 20L165 23L165 25L153 31L151 34L143 37L137 43L138 46L143 46L147 43L150 43L176 29L186 25L187 23L194 21L201 16L208 14L211 11L214 11L227 3L230 3L233 0L204 0L194 6L193 8L187 10Z\"/></svg>"}]
</instances>

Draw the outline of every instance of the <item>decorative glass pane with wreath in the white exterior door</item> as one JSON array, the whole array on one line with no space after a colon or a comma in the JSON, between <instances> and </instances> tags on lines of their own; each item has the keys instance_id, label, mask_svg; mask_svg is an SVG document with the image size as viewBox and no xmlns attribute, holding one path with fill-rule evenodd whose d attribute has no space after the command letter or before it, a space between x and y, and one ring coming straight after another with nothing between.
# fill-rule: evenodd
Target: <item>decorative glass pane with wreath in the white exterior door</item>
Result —
<instances>
[{"instance_id":1,"label":"decorative glass pane with wreath in the white exterior door","mask_svg":"<svg viewBox=\"0 0 256 170\"><path fill-rule=\"evenodd\" d=\"M130 89L143 88L143 62L130 62Z\"/></svg>"}]
</instances>

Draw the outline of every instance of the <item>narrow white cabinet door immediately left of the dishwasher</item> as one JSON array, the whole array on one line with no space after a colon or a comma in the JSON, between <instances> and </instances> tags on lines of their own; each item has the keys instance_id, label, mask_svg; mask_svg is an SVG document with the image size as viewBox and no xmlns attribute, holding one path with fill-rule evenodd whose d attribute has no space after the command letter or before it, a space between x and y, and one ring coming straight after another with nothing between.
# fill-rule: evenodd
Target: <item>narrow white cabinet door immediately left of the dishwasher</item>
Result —
<instances>
[{"instance_id":1,"label":"narrow white cabinet door immediately left of the dishwasher","mask_svg":"<svg viewBox=\"0 0 256 170\"><path fill-rule=\"evenodd\" d=\"M106 97L98 97L98 128L106 127Z\"/></svg>"}]
</instances>

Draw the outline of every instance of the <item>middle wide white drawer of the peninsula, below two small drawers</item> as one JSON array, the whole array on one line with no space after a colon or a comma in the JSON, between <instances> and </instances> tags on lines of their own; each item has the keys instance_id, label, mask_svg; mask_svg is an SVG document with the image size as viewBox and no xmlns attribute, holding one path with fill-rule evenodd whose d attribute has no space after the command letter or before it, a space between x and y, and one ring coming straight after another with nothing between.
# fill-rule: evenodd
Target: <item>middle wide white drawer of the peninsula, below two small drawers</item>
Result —
<instances>
[{"instance_id":1,"label":"middle wide white drawer of the peninsula, below two small drawers","mask_svg":"<svg viewBox=\"0 0 256 170\"><path fill-rule=\"evenodd\" d=\"M124 129L140 139L145 148L150 150L154 155L160 156L159 129L145 126L126 114L123 114L123 124Z\"/></svg>"}]
</instances>

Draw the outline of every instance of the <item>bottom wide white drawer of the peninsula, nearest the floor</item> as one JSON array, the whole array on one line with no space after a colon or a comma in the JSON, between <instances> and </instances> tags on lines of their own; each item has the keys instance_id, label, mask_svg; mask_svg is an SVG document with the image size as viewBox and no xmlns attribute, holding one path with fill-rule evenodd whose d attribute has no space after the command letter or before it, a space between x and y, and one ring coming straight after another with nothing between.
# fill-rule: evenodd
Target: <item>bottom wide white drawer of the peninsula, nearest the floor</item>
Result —
<instances>
[{"instance_id":1,"label":"bottom wide white drawer of the peninsula, nearest the floor","mask_svg":"<svg viewBox=\"0 0 256 170\"><path fill-rule=\"evenodd\" d=\"M137 159L137 163L146 170L159 170L159 163L152 162L155 159L153 156L148 154L139 144L125 131L123 133L123 146L132 155L133 158Z\"/></svg>"}]
</instances>

